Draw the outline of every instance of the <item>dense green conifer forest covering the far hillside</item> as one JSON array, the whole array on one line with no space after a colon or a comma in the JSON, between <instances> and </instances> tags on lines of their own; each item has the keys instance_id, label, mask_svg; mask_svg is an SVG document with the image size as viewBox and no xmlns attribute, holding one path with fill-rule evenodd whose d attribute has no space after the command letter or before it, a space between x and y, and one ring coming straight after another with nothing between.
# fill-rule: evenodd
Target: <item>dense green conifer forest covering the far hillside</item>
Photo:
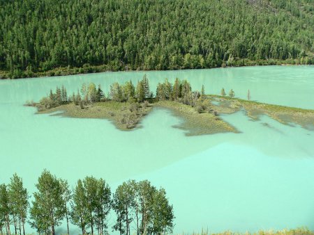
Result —
<instances>
[{"instance_id":1,"label":"dense green conifer forest covering the far hillside","mask_svg":"<svg viewBox=\"0 0 314 235\"><path fill-rule=\"evenodd\" d=\"M313 11L312 0L1 0L0 70L313 64Z\"/></svg>"}]
</instances>

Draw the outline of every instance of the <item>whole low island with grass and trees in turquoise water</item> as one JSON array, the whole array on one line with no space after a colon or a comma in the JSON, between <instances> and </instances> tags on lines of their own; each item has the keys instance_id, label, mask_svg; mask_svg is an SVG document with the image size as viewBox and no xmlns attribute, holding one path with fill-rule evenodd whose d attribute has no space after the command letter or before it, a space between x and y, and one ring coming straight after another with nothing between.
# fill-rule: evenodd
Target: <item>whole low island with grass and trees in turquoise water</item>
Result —
<instances>
[{"instance_id":1,"label":"whole low island with grass and trees in turquoise water","mask_svg":"<svg viewBox=\"0 0 314 235\"><path fill-rule=\"evenodd\" d=\"M252 120L268 115L283 124L299 124L306 129L314 127L313 110L237 99L234 98L233 90L230 90L228 96L224 89L221 90L221 95L205 95L204 86L200 92L192 91L186 80L176 79L172 84L165 79L163 83L158 83L154 95L149 89L146 75L137 83L136 88L131 81L122 85L113 83L107 97L100 86L97 89L94 83L90 83L88 86L83 84L70 97L62 86L56 92L50 90L50 95L40 99L40 102L27 102L27 105L36 106L38 113L107 119L123 131L139 127L142 118L154 107L167 108L181 118L182 122L174 127L184 129L187 136L237 133L239 131L221 119L220 115L240 110L245 111Z\"/></svg>"}]
</instances>

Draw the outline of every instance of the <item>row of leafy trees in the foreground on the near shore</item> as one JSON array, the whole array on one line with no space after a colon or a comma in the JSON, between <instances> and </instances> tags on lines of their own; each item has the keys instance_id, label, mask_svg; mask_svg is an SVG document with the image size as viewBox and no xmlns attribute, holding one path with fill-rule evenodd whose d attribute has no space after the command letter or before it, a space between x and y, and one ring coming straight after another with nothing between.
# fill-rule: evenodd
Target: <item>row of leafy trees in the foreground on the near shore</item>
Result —
<instances>
[{"instance_id":1,"label":"row of leafy trees in the foreground on the near shore","mask_svg":"<svg viewBox=\"0 0 314 235\"><path fill-rule=\"evenodd\" d=\"M52 235L64 220L68 234L69 223L80 227L82 234L108 234L110 229L126 235L131 231L167 234L174 227L173 207L165 189L158 189L147 180L125 181L111 193L104 179L85 177L70 190L68 181L44 170L36 189L30 204L21 177L15 174L8 185L0 185L0 234L25 235L27 218L38 234ZM110 211L117 218L112 228L107 222Z\"/></svg>"}]
</instances>

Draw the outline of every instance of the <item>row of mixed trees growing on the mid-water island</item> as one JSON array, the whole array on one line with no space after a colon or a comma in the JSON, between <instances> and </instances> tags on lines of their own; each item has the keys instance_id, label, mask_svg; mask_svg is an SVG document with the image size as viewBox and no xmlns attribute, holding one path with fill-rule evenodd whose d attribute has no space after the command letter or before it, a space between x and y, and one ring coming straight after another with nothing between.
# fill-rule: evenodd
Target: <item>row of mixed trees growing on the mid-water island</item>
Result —
<instances>
[{"instance_id":1,"label":"row of mixed trees growing on the mid-water island","mask_svg":"<svg viewBox=\"0 0 314 235\"><path fill-rule=\"evenodd\" d=\"M204 104L205 89L202 85L201 90L192 90L188 80L184 79L181 81L176 78L174 83L170 83L168 79L165 79L162 83L158 83L156 92L151 92L149 86L149 79L147 75L144 74L142 80L137 82L134 86L132 81L126 81L124 84L119 84L118 82L112 83L109 88L107 96L103 92L100 85L96 88L94 83L82 84L77 92L73 92L73 95L68 96L68 92L64 86L61 88L57 87L55 92L50 90L50 95L40 99L38 108L53 108L60 106L61 104L68 104L73 102L75 106L80 106L84 108L94 102L128 102L129 104L144 103L145 106L149 102L165 101L170 100L174 102L180 102L186 105L195 107L198 113L202 113L206 109ZM225 89L222 88L220 91L221 96L227 95ZM234 90L228 92L228 96L233 98L235 96ZM248 100L251 99L250 90L248 90ZM35 103L27 103L30 106L36 106ZM130 106L130 110L136 109L135 106ZM130 125L133 127L133 125Z\"/></svg>"}]
</instances>

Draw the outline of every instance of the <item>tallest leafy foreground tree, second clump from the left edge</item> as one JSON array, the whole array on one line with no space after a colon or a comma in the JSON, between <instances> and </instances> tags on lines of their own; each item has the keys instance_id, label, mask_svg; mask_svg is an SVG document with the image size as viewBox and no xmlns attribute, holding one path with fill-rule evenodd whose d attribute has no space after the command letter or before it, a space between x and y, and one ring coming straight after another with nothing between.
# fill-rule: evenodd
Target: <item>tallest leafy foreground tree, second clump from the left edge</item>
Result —
<instances>
[{"instance_id":1,"label":"tallest leafy foreground tree, second clump from the left edge","mask_svg":"<svg viewBox=\"0 0 314 235\"><path fill-rule=\"evenodd\" d=\"M33 193L34 201L30 211L33 220L31 226L42 231L42 229L47 230L46 226L49 225L50 232L54 235L55 227L61 224L65 214L61 181L44 170L38 178L36 188L38 192Z\"/></svg>"}]
</instances>

